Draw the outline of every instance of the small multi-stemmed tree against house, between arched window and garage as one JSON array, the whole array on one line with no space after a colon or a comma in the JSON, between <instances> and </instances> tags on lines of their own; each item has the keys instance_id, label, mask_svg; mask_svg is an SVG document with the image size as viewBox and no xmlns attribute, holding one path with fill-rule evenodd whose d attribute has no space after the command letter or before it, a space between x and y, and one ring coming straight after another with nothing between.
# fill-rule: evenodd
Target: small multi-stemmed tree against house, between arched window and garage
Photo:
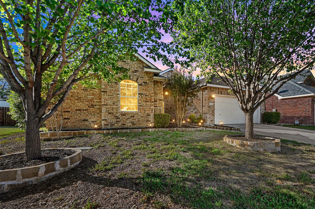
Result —
<instances>
[{"instance_id":1,"label":"small multi-stemmed tree against house, between arched window and garage","mask_svg":"<svg viewBox=\"0 0 315 209\"><path fill-rule=\"evenodd\" d=\"M166 89L170 91L173 97L173 105L175 118L178 127L181 127L188 111L188 107L192 105L192 101L198 98L200 86L192 77L192 73L187 73L184 68L175 67L168 74L168 83Z\"/></svg>"}]
</instances>

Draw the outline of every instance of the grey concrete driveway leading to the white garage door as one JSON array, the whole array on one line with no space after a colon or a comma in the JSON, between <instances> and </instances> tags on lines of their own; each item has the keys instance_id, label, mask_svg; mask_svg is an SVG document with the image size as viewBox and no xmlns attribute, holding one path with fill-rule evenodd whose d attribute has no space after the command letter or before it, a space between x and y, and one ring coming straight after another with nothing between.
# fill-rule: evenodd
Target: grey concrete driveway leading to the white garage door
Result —
<instances>
[{"instance_id":1,"label":"grey concrete driveway leading to the white garage door","mask_svg":"<svg viewBox=\"0 0 315 209\"><path fill-rule=\"evenodd\" d=\"M229 124L228 126L240 128L241 131L245 131L245 124ZM313 130L296 129L277 125L254 124L254 133L274 138L315 144L315 131Z\"/></svg>"}]
</instances>

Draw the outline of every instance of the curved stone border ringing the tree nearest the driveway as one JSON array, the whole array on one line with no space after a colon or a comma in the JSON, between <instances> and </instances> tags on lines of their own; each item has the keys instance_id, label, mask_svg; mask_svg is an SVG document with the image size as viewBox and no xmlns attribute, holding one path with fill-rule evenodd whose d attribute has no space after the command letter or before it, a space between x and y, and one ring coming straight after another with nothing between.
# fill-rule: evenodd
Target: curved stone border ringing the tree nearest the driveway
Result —
<instances>
[{"instance_id":1,"label":"curved stone border ringing the tree nearest the driveway","mask_svg":"<svg viewBox=\"0 0 315 209\"><path fill-rule=\"evenodd\" d=\"M237 137L237 135L234 135L233 137ZM274 139L270 137L265 137L266 139ZM278 152L281 151L281 141L280 139L274 139L274 141L268 141L268 142L253 142L253 141L243 141L243 140L234 140L229 138L228 135L225 135L223 138L223 141L226 143L241 147L244 149L249 149L252 151L258 151L258 152Z\"/></svg>"}]
</instances>

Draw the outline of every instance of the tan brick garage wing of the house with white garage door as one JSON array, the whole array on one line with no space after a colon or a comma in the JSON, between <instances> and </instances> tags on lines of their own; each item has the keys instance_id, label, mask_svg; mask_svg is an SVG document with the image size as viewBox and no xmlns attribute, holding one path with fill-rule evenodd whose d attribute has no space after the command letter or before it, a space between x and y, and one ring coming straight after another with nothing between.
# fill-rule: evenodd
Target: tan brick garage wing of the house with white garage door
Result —
<instances>
[{"instance_id":1,"label":"tan brick garage wing of the house with white garage door","mask_svg":"<svg viewBox=\"0 0 315 209\"><path fill-rule=\"evenodd\" d=\"M173 69L167 69L160 75L167 76ZM189 107L187 117L194 113L201 114L206 124L244 124L245 114L239 107L236 97L229 92L229 87L220 78L214 77L210 82L205 78L200 79L201 91L199 97L193 100L192 107ZM172 96L166 95L164 88L165 113L175 118ZM260 107L254 113L254 123L260 123Z\"/></svg>"}]
</instances>

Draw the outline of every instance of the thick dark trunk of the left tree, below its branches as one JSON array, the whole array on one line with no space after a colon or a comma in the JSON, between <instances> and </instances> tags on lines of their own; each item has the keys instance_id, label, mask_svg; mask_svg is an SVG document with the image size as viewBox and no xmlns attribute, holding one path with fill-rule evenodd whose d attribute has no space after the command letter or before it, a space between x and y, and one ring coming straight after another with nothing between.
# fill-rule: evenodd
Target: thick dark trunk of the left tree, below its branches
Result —
<instances>
[{"instance_id":1,"label":"thick dark trunk of the left tree, below its branches","mask_svg":"<svg viewBox=\"0 0 315 209\"><path fill-rule=\"evenodd\" d=\"M25 154L26 160L42 157L40 149L39 118L26 116L25 122Z\"/></svg>"}]
</instances>

